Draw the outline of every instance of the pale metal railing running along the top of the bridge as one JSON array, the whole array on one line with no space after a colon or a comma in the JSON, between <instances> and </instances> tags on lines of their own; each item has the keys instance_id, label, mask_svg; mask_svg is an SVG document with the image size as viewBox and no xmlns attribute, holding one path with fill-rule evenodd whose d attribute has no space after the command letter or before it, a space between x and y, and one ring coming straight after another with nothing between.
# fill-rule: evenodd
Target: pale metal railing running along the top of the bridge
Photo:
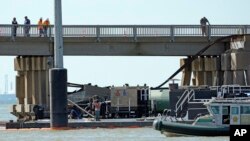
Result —
<instances>
[{"instance_id":1,"label":"pale metal railing running along the top of the bridge","mask_svg":"<svg viewBox=\"0 0 250 141\"><path fill-rule=\"evenodd\" d=\"M18 25L16 36L24 36L24 25ZM0 36L12 36L12 25L0 24ZM31 25L30 37L38 37L37 25ZM48 37L54 36L54 26L47 31ZM250 34L250 25L210 25L207 36L228 36ZM174 37L202 36L200 25L64 25L64 37Z\"/></svg>"}]
</instances>

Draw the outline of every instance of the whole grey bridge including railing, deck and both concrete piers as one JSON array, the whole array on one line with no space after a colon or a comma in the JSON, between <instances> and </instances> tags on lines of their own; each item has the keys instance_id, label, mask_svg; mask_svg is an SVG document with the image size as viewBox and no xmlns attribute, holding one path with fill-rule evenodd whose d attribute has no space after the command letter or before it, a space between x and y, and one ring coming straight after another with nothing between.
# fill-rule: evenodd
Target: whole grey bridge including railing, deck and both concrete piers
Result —
<instances>
[{"instance_id":1,"label":"whole grey bridge including railing, deck and both concrete piers","mask_svg":"<svg viewBox=\"0 0 250 141\"><path fill-rule=\"evenodd\" d=\"M64 55L193 56L232 34L250 34L250 25L211 25L206 36L200 25L67 25L63 26ZM11 112L18 119L34 118L34 105L43 106L49 115L53 37L53 26L47 37L39 37L37 25L31 25L30 37L25 37L24 25L19 25L14 37L12 25L0 25L0 56L18 56L14 61L18 101ZM226 52L237 49L232 43L238 40L244 44L243 52ZM197 86L250 84L249 55L249 36L221 40L182 71L181 85L190 85L191 80ZM181 64L187 61L182 59Z\"/></svg>"}]
</instances>

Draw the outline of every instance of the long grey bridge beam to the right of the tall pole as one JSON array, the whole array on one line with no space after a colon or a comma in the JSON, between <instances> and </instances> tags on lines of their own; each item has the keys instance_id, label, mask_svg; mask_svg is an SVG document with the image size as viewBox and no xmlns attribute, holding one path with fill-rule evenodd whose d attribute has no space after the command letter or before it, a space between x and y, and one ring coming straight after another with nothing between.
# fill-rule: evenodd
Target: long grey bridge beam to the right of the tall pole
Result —
<instances>
[{"instance_id":1,"label":"long grey bridge beam to the right of the tall pole","mask_svg":"<svg viewBox=\"0 0 250 141\"><path fill-rule=\"evenodd\" d=\"M64 55L97 56L192 56L207 43L65 43ZM224 44L216 44L204 55L220 55Z\"/></svg>"}]
</instances>

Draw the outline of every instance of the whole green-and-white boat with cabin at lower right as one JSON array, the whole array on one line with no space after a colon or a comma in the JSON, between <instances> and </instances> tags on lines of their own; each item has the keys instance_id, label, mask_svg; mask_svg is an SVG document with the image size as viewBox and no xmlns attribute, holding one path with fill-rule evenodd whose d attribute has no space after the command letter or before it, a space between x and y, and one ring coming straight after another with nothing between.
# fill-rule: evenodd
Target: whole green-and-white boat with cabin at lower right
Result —
<instances>
[{"instance_id":1,"label":"whole green-and-white boat with cabin at lower right","mask_svg":"<svg viewBox=\"0 0 250 141\"><path fill-rule=\"evenodd\" d=\"M240 94L239 96L242 96ZM197 136L228 136L230 125L250 124L250 97L225 98L220 95L205 103L208 115L200 116L193 122L173 121L171 117L161 117L153 122L153 127L162 132Z\"/></svg>"}]
</instances>

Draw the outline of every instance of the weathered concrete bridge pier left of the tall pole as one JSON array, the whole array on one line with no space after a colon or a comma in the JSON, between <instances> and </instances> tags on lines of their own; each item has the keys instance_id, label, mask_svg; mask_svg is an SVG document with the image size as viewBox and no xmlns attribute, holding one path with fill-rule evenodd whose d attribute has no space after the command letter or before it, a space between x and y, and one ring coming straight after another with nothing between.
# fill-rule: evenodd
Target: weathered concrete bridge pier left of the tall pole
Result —
<instances>
[{"instance_id":1,"label":"weathered concrete bridge pier left of the tall pole","mask_svg":"<svg viewBox=\"0 0 250 141\"><path fill-rule=\"evenodd\" d=\"M52 66L51 57L20 56L15 58L17 105L13 105L11 113L17 116L18 120L35 118L33 111L35 105L43 107L44 116L49 116L49 69Z\"/></svg>"}]
</instances>

